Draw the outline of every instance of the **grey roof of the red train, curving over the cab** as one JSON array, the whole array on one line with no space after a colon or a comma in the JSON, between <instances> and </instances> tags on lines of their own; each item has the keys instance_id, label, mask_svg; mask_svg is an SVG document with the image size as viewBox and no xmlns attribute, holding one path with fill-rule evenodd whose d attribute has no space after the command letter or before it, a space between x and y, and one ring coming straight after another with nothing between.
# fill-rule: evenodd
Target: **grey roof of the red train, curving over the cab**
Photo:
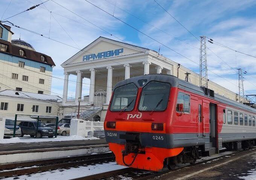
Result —
<instances>
[{"instance_id":1,"label":"grey roof of the red train, curving over the cab","mask_svg":"<svg viewBox=\"0 0 256 180\"><path fill-rule=\"evenodd\" d=\"M138 80L147 80L147 81L146 81L145 84L140 86L139 83L138 83ZM129 78L127 80L123 80L123 81L118 82L114 86L114 89L116 89L117 87L123 86L125 84L129 84L129 83L134 83L134 84L136 84L137 87L144 87L150 81L160 81L160 82L171 83L172 87L178 87L178 88L183 89L185 91L195 93L195 94L200 95L200 96L205 96L207 98L214 99L215 101L218 101L218 102L230 105L230 106L234 106L234 107L237 107L237 108L241 108L241 109L246 110L246 111L251 111L253 113L256 113L256 109L254 109L254 108L252 108L248 105L244 105L244 104L241 104L239 102L233 101L231 99L228 99L228 98L226 98L224 96L221 96L221 95L218 95L216 93L214 93L214 97L207 96L204 93L204 88L203 87L199 87L199 86L191 84L187 81L178 79L177 77L175 77L173 75L148 74L148 75L137 76L137 77Z\"/></svg>"}]
</instances>

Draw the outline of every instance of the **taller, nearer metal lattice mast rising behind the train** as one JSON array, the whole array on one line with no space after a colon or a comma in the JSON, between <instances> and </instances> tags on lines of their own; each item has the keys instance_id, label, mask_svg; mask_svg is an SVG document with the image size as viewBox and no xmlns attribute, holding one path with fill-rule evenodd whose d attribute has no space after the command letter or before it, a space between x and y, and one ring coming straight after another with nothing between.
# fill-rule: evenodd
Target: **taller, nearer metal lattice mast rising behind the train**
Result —
<instances>
[{"instance_id":1,"label":"taller, nearer metal lattice mast rising behind the train","mask_svg":"<svg viewBox=\"0 0 256 180\"><path fill-rule=\"evenodd\" d=\"M200 86L208 88L206 36L200 38Z\"/></svg>"}]
</instances>

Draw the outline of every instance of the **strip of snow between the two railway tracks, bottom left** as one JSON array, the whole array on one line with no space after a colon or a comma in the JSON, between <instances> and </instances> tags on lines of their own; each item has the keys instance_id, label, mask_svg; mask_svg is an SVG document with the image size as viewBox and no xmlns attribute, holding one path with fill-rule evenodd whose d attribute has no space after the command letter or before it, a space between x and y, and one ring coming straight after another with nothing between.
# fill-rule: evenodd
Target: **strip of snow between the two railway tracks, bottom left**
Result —
<instances>
[{"instance_id":1,"label":"strip of snow between the two railway tracks, bottom left","mask_svg":"<svg viewBox=\"0 0 256 180\"><path fill-rule=\"evenodd\" d=\"M125 166L117 165L116 162L108 164L96 164L95 166L88 165L87 167L79 166L79 168L58 169L53 171L40 172L37 174L18 176L19 180L70 180L73 178L84 177L102 172L114 171L117 169L127 168ZM13 177L3 178L4 180L13 180Z\"/></svg>"}]
</instances>

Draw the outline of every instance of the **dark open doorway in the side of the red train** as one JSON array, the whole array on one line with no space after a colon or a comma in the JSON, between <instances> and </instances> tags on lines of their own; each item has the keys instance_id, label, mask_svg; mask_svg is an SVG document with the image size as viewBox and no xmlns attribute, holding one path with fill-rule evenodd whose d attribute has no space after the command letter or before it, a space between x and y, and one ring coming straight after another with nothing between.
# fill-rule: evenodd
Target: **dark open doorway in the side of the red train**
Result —
<instances>
[{"instance_id":1,"label":"dark open doorway in the side of the red train","mask_svg":"<svg viewBox=\"0 0 256 180\"><path fill-rule=\"evenodd\" d=\"M217 122L216 104L210 103L209 105L209 119L210 119L210 122L209 122L210 142L215 144L216 143L216 122Z\"/></svg>"}]
</instances>

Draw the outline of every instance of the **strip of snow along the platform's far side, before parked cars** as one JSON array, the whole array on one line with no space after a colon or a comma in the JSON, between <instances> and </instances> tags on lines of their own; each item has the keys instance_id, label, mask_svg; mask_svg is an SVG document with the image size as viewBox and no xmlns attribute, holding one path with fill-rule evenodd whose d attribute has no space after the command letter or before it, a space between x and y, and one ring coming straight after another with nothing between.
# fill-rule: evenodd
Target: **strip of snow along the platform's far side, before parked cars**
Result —
<instances>
[{"instance_id":1,"label":"strip of snow along the platform's far side, before parked cars","mask_svg":"<svg viewBox=\"0 0 256 180\"><path fill-rule=\"evenodd\" d=\"M50 142L50 141L76 141L76 140L94 140L99 139L96 137L82 137L78 135L72 135L72 136L57 136L57 138L48 138L43 137L40 139L36 138L28 138L28 137L15 137L15 138L9 138L9 139L0 139L0 144L13 144L13 143L31 143L31 142Z\"/></svg>"}]
</instances>

